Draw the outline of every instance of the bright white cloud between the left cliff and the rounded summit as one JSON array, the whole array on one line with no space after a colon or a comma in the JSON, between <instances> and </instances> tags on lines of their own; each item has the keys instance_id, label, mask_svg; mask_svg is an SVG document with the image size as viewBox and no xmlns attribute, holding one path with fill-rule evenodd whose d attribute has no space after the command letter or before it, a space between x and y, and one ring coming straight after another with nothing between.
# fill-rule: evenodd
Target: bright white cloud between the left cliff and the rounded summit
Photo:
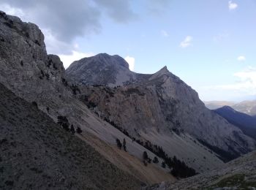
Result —
<instances>
[{"instance_id":1,"label":"bright white cloud between the left cliff and the rounded summit","mask_svg":"<svg viewBox=\"0 0 256 190\"><path fill-rule=\"evenodd\" d=\"M69 67L70 64L72 64L73 61L78 61L81 58L91 57L94 56L94 53L81 53L75 50L72 50L71 55L58 55L59 58L61 58L61 61L63 62L63 65L65 69Z\"/></svg>"}]
</instances>

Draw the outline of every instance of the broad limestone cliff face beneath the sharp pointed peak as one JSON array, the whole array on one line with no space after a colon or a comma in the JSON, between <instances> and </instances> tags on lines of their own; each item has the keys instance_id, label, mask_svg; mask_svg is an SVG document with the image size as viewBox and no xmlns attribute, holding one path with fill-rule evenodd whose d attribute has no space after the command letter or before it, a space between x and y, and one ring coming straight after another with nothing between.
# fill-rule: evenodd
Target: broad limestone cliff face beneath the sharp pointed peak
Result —
<instances>
[{"instance_id":1,"label":"broad limestone cliff face beneath the sharp pointed peak","mask_svg":"<svg viewBox=\"0 0 256 190\"><path fill-rule=\"evenodd\" d=\"M102 118L137 137L141 133L171 136L173 132L184 132L233 156L255 148L255 140L208 110L197 92L170 73L166 66L153 75L136 76L132 83L117 88L81 86L85 95L81 99L93 104ZM105 84L108 85L108 81Z\"/></svg>"}]
</instances>

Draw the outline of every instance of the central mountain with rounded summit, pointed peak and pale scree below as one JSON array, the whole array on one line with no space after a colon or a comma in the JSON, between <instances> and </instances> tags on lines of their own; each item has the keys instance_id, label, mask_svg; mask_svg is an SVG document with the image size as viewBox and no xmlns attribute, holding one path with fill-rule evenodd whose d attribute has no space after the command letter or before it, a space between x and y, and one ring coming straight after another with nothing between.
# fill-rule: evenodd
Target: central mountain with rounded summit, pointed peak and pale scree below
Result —
<instances>
[{"instance_id":1,"label":"central mountain with rounded summit, pointed peak and pale scree below","mask_svg":"<svg viewBox=\"0 0 256 190\"><path fill-rule=\"evenodd\" d=\"M217 113L208 110L198 98L197 92L169 72L166 66L152 75L135 74L135 80L127 83L122 80L124 85L115 88L110 87L117 83L118 77L113 77L113 82L101 78L98 70L86 70L91 60L97 60L95 64L101 68L105 60L112 61L115 58L100 54L81 59L73 63L75 66L71 64L66 73L69 79L75 75L80 77L72 81L80 85L78 98L105 121L126 130L135 139L161 146L168 155L178 156L200 172L222 164L215 155L208 154L211 152L209 149L203 151L205 146L225 161L255 148L255 140L244 135ZM121 67L123 61L116 68ZM108 64L116 65L118 61ZM85 69L81 71L80 68ZM72 76L69 76L71 69ZM81 72L97 75L97 81L103 82L96 81L94 86L85 85L91 82L81 76ZM101 75L113 76L123 70L115 69L113 75L109 72L102 69ZM205 157L211 160L208 161L211 165L203 164L206 163Z\"/></svg>"}]
</instances>

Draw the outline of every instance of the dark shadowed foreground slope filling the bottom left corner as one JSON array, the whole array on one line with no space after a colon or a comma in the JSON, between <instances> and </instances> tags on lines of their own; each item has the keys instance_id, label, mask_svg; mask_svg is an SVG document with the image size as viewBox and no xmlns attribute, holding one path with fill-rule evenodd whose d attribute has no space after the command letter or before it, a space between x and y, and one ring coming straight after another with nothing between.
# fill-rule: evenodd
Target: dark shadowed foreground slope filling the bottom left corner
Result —
<instances>
[{"instance_id":1,"label":"dark shadowed foreground slope filling the bottom left corner","mask_svg":"<svg viewBox=\"0 0 256 190\"><path fill-rule=\"evenodd\" d=\"M140 189L140 180L0 84L0 189Z\"/></svg>"}]
</instances>

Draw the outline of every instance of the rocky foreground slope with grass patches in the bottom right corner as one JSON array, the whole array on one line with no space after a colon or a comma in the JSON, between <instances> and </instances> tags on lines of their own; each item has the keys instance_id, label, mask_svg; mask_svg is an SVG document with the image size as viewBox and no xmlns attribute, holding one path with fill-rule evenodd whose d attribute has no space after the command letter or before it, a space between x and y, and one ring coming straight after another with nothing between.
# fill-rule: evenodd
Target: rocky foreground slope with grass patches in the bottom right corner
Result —
<instances>
[{"instance_id":1,"label":"rocky foreground slope with grass patches in the bottom right corner","mask_svg":"<svg viewBox=\"0 0 256 190\"><path fill-rule=\"evenodd\" d=\"M178 180L176 183L162 182L143 189L255 189L255 167L256 152L254 151L230 161L216 170Z\"/></svg>"}]
</instances>

